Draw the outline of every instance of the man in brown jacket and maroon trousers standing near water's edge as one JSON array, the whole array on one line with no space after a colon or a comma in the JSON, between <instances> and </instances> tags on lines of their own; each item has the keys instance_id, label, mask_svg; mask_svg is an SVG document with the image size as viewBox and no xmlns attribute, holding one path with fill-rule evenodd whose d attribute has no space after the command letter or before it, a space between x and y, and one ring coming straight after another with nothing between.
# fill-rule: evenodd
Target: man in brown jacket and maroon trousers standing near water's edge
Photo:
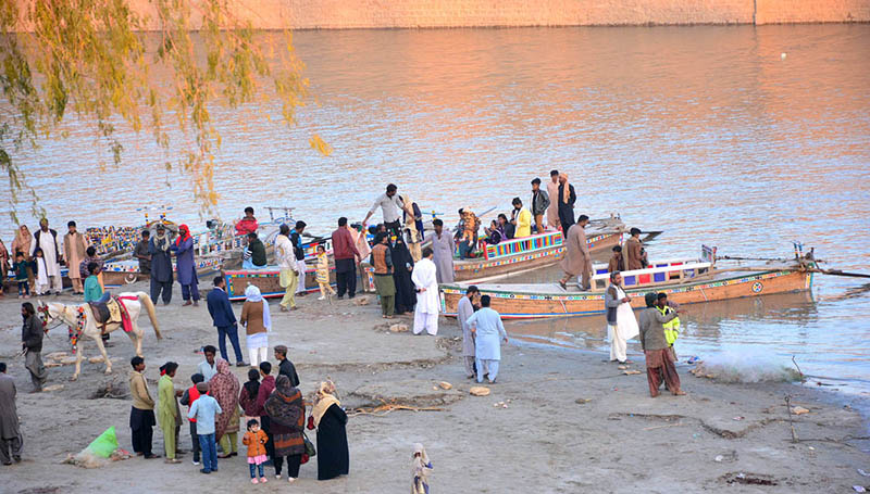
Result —
<instances>
[{"instance_id":1,"label":"man in brown jacket and maroon trousers standing near water's edge","mask_svg":"<svg viewBox=\"0 0 870 494\"><path fill-rule=\"evenodd\" d=\"M661 387L662 380L674 395L686 394L680 389L680 375L676 373L676 367L668 349L668 340L664 338L664 328L662 327L662 325L673 320L679 311L664 315L656 307L658 296L655 293L647 293L645 299L646 308L641 312L639 329L641 346L643 346L644 355L646 356L646 378L649 382L649 395L652 397L659 395L659 387Z\"/></svg>"}]
</instances>

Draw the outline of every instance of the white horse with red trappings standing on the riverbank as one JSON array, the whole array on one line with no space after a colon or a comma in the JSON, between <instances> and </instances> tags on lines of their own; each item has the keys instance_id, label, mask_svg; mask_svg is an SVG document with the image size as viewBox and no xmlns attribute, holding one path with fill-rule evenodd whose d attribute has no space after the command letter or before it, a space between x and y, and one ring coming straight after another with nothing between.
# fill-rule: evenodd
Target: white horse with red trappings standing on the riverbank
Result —
<instances>
[{"instance_id":1,"label":"white horse with red trappings standing on the riverbank","mask_svg":"<svg viewBox=\"0 0 870 494\"><path fill-rule=\"evenodd\" d=\"M129 316L129 321L132 326L132 330L127 333L133 343L136 344L136 355L142 356L142 340L145 339L145 331L139 329L139 314L141 314L142 305L148 311L148 318L151 319L151 326L154 328L154 333L157 333L157 339L160 340L160 326L157 322L157 314L154 313L154 304L151 303L151 297L148 296L145 292L124 292L119 293L115 295L116 297L130 297L136 300L124 300L124 307L127 309L127 315ZM39 301L38 313L41 315L42 320L46 326L52 324L53 321L62 321L72 328L73 332L78 331L79 322L84 322L84 327L82 329L80 338L89 337L97 343L97 347L100 349L100 353L102 354L103 362L105 362L105 373L112 373L112 362L109 359L109 355L105 353L105 346L102 344L102 325L97 325L97 320L94 317L94 313L90 311L89 304L76 304L76 305L65 305L65 304L58 304L58 303L48 303L46 304L41 300ZM121 328L121 322L110 322L105 325L105 332L112 332L115 329ZM78 349L76 352L76 360L75 360L75 373L73 373L72 380L75 381L78 379L78 373L82 370L82 359L83 353L80 349L80 343L78 343Z\"/></svg>"}]
</instances>

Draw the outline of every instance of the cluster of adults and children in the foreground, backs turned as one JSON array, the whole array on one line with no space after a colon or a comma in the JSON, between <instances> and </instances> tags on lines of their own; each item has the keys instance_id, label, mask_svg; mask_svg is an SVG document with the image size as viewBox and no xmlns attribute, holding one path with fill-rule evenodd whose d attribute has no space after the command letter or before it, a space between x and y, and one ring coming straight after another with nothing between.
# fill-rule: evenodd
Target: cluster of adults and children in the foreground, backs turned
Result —
<instances>
[{"instance_id":1,"label":"cluster of adults and children in the foreground, backs turned","mask_svg":"<svg viewBox=\"0 0 870 494\"><path fill-rule=\"evenodd\" d=\"M320 383L307 414L307 404L298 389L299 376L287 352L284 345L275 346L278 364L260 362L250 368L248 381L243 385L229 370L229 363L216 357L217 349L207 345L204 359L186 387L176 387L178 364L167 362L160 367L157 400L152 398L145 379L145 358L133 357L129 372L133 451L146 459L159 458L152 451L153 428L159 427L164 461L181 464L181 457L187 454L181 446L182 426L187 421L191 464L201 466L201 473L211 473L219 470L219 459L233 461L231 458L239 456L238 439L244 426L241 443L247 446L245 458L252 483L266 482L266 466L273 467L275 478L281 480L285 463L287 480L294 482L301 465L314 452L318 480L347 474L350 470L347 414L335 384L328 380ZM273 376L273 370L277 370L277 376ZM308 441L306 429L316 431L316 446Z\"/></svg>"}]
</instances>

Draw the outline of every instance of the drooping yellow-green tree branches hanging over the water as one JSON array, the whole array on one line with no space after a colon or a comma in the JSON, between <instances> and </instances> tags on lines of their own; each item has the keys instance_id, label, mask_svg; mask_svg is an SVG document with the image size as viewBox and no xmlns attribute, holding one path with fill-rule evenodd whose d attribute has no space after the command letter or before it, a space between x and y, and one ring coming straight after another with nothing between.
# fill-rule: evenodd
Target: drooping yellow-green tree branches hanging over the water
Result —
<instances>
[{"instance_id":1,"label":"drooping yellow-green tree branches hanging over the water","mask_svg":"<svg viewBox=\"0 0 870 494\"><path fill-rule=\"evenodd\" d=\"M124 149L117 123L149 129L167 150L164 117L176 118L185 136L176 165L191 178L203 211L217 201L212 180L221 136L210 109L277 98L283 119L295 123L308 80L289 31L279 43L254 40L250 23L237 20L226 0L150 5L151 20L133 12L128 0L0 1L0 90L13 109L0 117L0 170L9 176L13 221L24 191L38 210L15 155L62 136L59 126L71 113L92 126L115 165ZM157 33L145 31L149 21ZM170 84L159 84L158 72ZM153 166L173 168L162 160Z\"/></svg>"}]
</instances>

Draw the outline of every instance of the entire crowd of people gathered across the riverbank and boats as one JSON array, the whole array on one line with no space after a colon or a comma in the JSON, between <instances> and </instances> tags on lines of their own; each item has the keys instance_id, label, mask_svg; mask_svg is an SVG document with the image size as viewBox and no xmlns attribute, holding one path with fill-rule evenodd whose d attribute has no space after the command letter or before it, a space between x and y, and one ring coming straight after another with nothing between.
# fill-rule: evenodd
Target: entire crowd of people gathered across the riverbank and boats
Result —
<instances>
[{"instance_id":1,"label":"entire crowd of people gathered across the riverbank and boats","mask_svg":"<svg viewBox=\"0 0 870 494\"><path fill-rule=\"evenodd\" d=\"M547 225L560 229L564 236L566 255L561 268L566 276L560 279L567 288L572 277L579 279L582 289L591 288L592 258L584 228L589 218L580 215L574 220L573 205L576 195L564 174L550 173L546 190L539 179L532 180L531 210L523 206L520 198L512 201L510 218L499 214L487 228L485 242L499 243L507 239L522 238L533 232L546 231ZM365 239L365 228L372 214L381 207L384 223L375 226L374 241ZM451 232L445 230L444 221L433 220L433 231L425 235L419 206L398 194L398 188L389 185L386 192L374 203L359 225L348 225L346 217L337 221L332 232L333 259L335 263L337 291L330 286L330 259L323 245L316 248L316 281L321 299L335 294L353 299L357 294L358 265L368 259L374 269L374 286L381 302L382 317L413 313L413 333L425 331L435 335L438 331L440 300L438 284L453 279L453 257L474 255L478 245L477 229L481 226L470 208L460 210L460 223ZM546 219L545 219L546 217ZM282 225L275 240L275 259L279 267L279 284L286 291L281 311L297 309L296 296L304 292L304 249L301 237L304 221L293 228ZM246 208L246 217L236 225L239 235L247 236L243 256L245 267L257 269L266 266L265 245L257 236L257 220L252 208ZM624 245L613 249L609 261L610 286L605 293L608 339L611 342L610 359L626 364L626 341L639 338L647 367L650 395L657 396L663 384L675 395L685 394L674 363L673 347L679 331L679 311L668 304L664 294L647 294L647 308L641 312L639 321L631 308L631 299L622 286L622 270L641 269L647 265L646 253L639 239L641 231L632 228ZM422 248L427 243L426 248ZM198 305L200 293L192 252L192 239L186 225L172 238L163 225L158 225L153 237L141 232L141 240L134 250L140 270L151 278L151 299L169 304L175 279L182 286L184 305ZM40 229L30 235L21 226L12 244L10 256L0 242L0 265L9 263L15 273L18 295L60 293L60 265L73 267L70 278L73 292L83 294L86 301L99 300L104 292L101 278L102 259L96 249L77 232L75 221L67 225L63 241L49 228L48 220L40 221ZM173 273L172 257L177 269ZM5 275L5 274L4 274ZM326 480L349 471L349 453L345 426L347 415L340 407L335 384L321 382L311 403L310 413L299 391L300 379L288 359L288 349L273 347L277 365L269 362L269 334L272 320L269 303L258 287L250 284L245 291L245 303L238 317L226 292L223 276L213 280L207 305L216 328L217 349L202 347L203 360L189 377L190 383L176 388L179 365L166 362L160 368L157 400L152 398L144 377L144 357L130 359L129 389L133 398L129 415L133 449L137 456L157 458L152 452L153 428L163 434L163 455L167 464L178 464L185 452L181 447L181 430L188 423L192 459L201 466L202 473L217 471L220 459L238 456L238 435L247 446L246 463L252 483L266 482L264 467L271 466L277 479L286 463L287 479L294 482L300 466L308 461L311 448L306 429L316 430L318 479ZM501 343L508 342L507 332L498 312L492 308L488 295L481 295L475 286L465 290L458 305L458 324L462 331L462 356L464 372L469 379L482 383L497 382L501 359ZM24 319L22 347L28 369L38 392L47 379L42 365L42 325L29 302L22 304ZM248 360L245 362L238 335L238 325L245 328ZM232 373L226 340L238 367L250 366L248 381L243 385ZM217 354L220 352L220 357ZM277 377L273 377L273 367ZM5 375L5 364L0 363L0 460L9 465L21 460L21 432L15 414L15 387ZM187 408L184 414L182 407ZM306 417L308 416L308 421ZM220 455L219 455L220 452ZM415 447L412 455L414 489L427 492L426 476L432 464L422 448ZM424 490L422 490L424 489ZM417 492L417 491L415 491Z\"/></svg>"}]
</instances>

